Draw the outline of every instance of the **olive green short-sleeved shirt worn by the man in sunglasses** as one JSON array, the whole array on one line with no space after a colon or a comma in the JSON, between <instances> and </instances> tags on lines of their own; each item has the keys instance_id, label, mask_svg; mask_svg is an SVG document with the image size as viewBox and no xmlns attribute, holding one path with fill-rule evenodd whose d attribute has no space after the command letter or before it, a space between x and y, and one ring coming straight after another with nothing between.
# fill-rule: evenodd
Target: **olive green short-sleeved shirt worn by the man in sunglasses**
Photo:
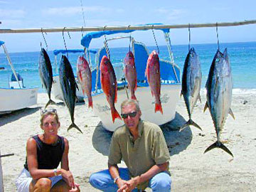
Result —
<instances>
[{"instance_id":1,"label":"olive green short-sleeved shirt worn by the man in sunglasses","mask_svg":"<svg viewBox=\"0 0 256 192\"><path fill-rule=\"evenodd\" d=\"M170 160L164 134L160 127L146 121L139 121L139 137L132 141L132 134L125 125L119 127L112 135L108 163L111 165L124 163L131 177L139 176L156 164L164 164ZM138 188L144 189L148 182L141 183Z\"/></svg>"}]
</instances>

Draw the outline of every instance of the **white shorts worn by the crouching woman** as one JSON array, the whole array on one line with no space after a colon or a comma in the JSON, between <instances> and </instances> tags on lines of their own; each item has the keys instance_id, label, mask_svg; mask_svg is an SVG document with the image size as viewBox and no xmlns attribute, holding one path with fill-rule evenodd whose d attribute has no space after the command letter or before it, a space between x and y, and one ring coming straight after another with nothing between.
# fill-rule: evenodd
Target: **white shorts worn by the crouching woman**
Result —
<instances>
[{"instance_id":1,"label":"white shorts worn by the crouching woman","mask_svg":"<svg viewBox=\"0 0 256 192\"><path fill-rule=\"evenodd\" d=\"M48 177L52 181L52 187L55 183L58 183L62 179L62 176L52 176ZM29 192L29 185L33 178L31 174L25 168L21 171L21 174L16 178L15 184L18 192Z\"/></svg>"}]
</instances>

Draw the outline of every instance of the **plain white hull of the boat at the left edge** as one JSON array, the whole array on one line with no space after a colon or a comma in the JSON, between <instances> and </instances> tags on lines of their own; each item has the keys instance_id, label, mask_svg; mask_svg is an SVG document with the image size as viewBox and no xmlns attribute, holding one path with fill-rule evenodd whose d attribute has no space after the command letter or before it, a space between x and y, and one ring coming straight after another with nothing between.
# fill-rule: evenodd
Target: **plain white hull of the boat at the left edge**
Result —
<instances>
[{"instance_id":1,"label":"plain white hull of the boat at the left edge","mask_svg":"<svg viewBox=\"0 0 256 192\"><path fill-rule=\"evenodd\" d=\"M36 105L38 89L38 87L28 89L0 88L0 114Z\"/></svg>"}]
</instances>

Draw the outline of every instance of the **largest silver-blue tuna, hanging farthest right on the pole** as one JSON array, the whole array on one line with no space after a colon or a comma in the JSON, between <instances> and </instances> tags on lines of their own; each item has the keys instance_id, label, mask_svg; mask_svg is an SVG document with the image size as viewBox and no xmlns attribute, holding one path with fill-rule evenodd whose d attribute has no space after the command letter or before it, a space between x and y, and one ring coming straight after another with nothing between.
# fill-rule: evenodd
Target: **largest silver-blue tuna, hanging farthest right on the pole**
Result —
<instances>
[{"instance_id":1,"label":"largest silver-blue tuna, hanging farthest right on the pole","mask_svg":"<svg viewBox=\"0 0 256 192\"><path fill-rule=\"evenodd\" d=\"M218 147L233 156L231 151L222 142L220 142L220 132L224 127L225 119L228 114L235 119L230 108L232 87L233 80L230 61L228 58L228 50L226 48L224 53L217 50L217 53L213 58L213 62L210 65L208 80L206 82L207 102L204 107L204 111L206 111L207 108L210 110L210 116L213 119L213 124L217 134L217 142L208 146L204 153Z\"/></svg>"}]
</instances>

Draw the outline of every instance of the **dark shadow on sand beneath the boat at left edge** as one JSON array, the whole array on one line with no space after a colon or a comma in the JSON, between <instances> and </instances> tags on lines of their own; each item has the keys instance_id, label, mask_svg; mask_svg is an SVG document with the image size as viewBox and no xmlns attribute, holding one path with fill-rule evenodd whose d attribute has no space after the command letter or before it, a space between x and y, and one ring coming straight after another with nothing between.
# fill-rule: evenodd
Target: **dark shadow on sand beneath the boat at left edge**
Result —
<instances>
[{"instance_id":1,"label":"dark shadow on sand beneath the boat at left edge","mask_svg":"<svg viewBox=\"0 0 256 192\"><path fill-rule=\"evenodd\" d=\"M41 107L25 108L22 110L16 110L8 114L0 114L0 127L4 124L14 122L20 119L21 117L26 117L27 115L33 114L34 112L37 112L40 109Z\"/></svg>"}]
</instances>

